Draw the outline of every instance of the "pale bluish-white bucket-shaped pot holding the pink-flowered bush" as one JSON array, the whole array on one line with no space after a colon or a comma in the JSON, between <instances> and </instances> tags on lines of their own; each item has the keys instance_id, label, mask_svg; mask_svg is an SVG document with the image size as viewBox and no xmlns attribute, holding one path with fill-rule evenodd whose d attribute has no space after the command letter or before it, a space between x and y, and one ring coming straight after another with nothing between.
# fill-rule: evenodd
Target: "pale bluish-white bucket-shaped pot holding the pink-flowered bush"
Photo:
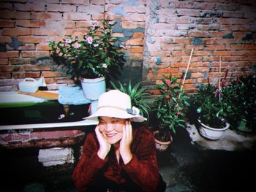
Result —
<instances>
[{"instance_id":1,"label":"pale bluish-white bucket-shaped pot holding the pink-flowered bush","mask_svg":"<svg viewBox=\"0 0 256 192\"><path fill-rule=\"evenodd\" d=\"M102 93L106 92L106 82L104 77L86 79L80 77L83 88L83 95L86 99L96 101Z\"/></svg>"}]
</instances>

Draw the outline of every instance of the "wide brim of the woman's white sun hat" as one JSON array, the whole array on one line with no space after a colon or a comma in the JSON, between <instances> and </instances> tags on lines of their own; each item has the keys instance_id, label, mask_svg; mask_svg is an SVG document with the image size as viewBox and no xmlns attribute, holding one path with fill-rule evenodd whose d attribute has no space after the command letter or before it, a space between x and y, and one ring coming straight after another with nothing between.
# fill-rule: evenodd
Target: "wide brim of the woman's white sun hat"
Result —
<instances>
[{"instance_id":1,"label":"wide brim of the woman's white sun hat","mask_svg":"<svg viewBox=\"0 0 256 192\"><path fill-rule=\"evenodd\" d=\"M110 114L111 113L111 114ZM83 118L88 120L98 120L99 117L111 117L111 118L121 118L121 119L131 119L134 122L143 122L147 120L141 115L131 115L127 112L124 112L123 110L118 109L111 109L111 112L109 110L105 109L98 109L94 114Z\"/></svg>"}]
</instances>

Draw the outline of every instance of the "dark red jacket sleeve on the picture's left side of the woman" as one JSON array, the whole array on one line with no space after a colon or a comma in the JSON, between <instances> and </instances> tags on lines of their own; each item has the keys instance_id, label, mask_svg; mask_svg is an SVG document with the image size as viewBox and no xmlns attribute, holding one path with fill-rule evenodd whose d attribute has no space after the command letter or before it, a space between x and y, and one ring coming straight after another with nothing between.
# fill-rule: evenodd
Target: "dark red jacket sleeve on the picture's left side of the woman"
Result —
<instances>
[{"instance_id":1,"label":"dark red jacket sleeve on the picture's left side of the woman","mask_svg":"<svg viewBox=\"0 0 256 192\"><path fill-rule=\"evenodd\" d=\"M96 177L99 171L108 161L108 158L105 160L99 158L98 149L94 135L89 133L83 145L83 154L72 174L75 186L79 191L86 191L92 183L97 181Z\"/></svg>"}]
</instances>

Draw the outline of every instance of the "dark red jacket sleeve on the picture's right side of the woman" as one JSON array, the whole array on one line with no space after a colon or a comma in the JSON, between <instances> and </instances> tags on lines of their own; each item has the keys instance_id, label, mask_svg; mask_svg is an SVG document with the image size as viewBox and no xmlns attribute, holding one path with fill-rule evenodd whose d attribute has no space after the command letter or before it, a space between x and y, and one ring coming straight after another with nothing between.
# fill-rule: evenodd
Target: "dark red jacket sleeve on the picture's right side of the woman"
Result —
<instances>
[{"instance_id":1,"label":"dark red jacket sleeve on the picture's right side of the woman","mask_svg":"<svg viewBox=\"0 0 256 192\"><path fill-rule=\"evenodd\" d=\"M132 152L132 159L124 165L124 169L143 191L156 191L159 183L159 169L154 137L149 129L140 128L139 132L134 136L137 138L133 143L133 147L135 145L138 147Z\"/></svg>"}]
</instances>

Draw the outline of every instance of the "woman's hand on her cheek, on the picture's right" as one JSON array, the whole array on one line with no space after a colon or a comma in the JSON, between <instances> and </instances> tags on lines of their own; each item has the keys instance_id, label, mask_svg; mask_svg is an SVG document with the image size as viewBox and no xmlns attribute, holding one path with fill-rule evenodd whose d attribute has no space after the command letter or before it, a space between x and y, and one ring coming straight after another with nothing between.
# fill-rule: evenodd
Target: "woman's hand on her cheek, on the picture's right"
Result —
<instances>
[{"instance_id":1,"label":"woman's hand on her cheek, on the picture's right","mask_svg":"<svg viewBox=\"0 0 256 192\"><path fill-rule=\"evenodd\" d=\"M132 159L131 146L132 144L132 124L127 120L123 127L123 137L120 142L120 155L124 164L128 164Z\"/></svg>"}]
</instances>

